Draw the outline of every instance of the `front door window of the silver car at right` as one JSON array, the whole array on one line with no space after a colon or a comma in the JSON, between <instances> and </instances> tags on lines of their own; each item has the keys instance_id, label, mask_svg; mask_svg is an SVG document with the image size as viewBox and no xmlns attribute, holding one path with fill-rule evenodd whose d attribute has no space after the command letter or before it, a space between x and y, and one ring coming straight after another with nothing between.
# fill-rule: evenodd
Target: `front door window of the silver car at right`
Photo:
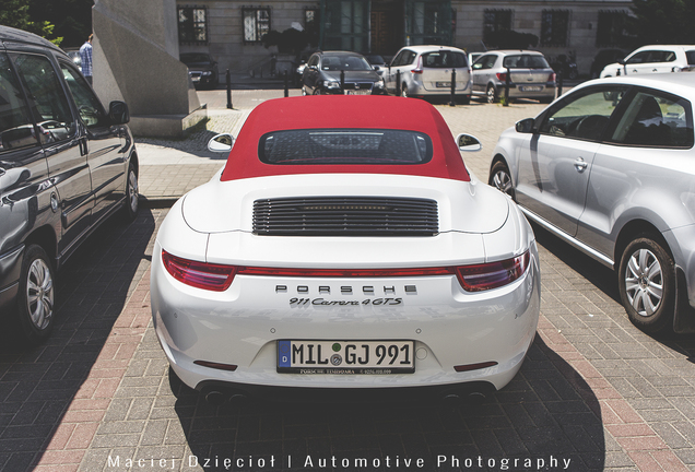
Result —
<instances>
[{"instance_id":1,"label":"front door window of the silver car at right","mask_svg":"<svg viewBox=\"0 0 695 472\"><path fill-rule=\"evenodd\" d=\"M591 88L559 102L544 118L540 132L554 137L599 141L611 116L623 99L626 87Z\"/></svg>"}]
</instances>

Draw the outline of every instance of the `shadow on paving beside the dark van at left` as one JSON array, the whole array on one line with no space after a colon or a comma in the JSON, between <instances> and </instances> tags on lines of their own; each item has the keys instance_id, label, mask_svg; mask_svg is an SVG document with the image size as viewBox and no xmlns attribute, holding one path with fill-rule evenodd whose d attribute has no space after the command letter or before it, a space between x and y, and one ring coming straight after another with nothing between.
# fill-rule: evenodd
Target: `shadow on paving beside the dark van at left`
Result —
<instances>
[{"instance_id":1,"label":"shadow on paving beside the dark van at left","mask_svg":"<svg viewBox=\"0 0 695 472\"><path fill-rule=\"evenodd\" d=\"M30 471L40 459L134 288L131 282L149 267L143 258L155 228L152 213L142 210L129 225L119 216L92 234L58 273L56 327L45 344L27 347L0 331L3 472Z\"/></svg>"}]
</instances>

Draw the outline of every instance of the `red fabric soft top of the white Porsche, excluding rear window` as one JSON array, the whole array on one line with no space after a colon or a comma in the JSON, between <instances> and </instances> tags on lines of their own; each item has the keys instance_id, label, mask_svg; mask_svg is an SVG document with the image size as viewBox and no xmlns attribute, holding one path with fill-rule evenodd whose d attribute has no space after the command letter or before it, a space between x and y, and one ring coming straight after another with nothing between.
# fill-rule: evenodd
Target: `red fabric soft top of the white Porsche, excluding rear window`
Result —
<instances>
[{"instance_id":1,"label":"red fabric soft top of the white Porsche, excluding rear window","mask_svg":"<svg viewBox=\"0 0 695 472\"><path fill-rule=\"evenodd\" d=\"M259 158L259 141L266 133L343 128L423 132L432 140L432 160L417 165L274 165ZM416 98L372 95L303 96L258 105L232 148L222 180L293 174L400 174L470 180L451 131L435 107Z\"/></svg>"}]
</instances>

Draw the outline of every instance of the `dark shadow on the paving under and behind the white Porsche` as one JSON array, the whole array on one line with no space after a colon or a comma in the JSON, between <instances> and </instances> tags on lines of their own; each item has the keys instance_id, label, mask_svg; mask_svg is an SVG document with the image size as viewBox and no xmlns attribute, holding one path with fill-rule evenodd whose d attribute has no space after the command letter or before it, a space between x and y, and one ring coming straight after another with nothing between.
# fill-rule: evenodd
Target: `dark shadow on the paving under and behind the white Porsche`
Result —
<instances>
[{"instance_id":1,"label":"dark shadow on the paving under and behind the white Porsche","mask_svg":"<svg viewBox=\"0 0 695 472\"><path fill-rule=\"evenodd\" d=\"M323 465L368 471L600 471L605 462L597 398L540 337L506 388L482 405L458 410L404 403L212 406L176 378L170 385L192 455L200 463L210 460L211 470L224 470L222 462L214 468L215 459L229 459L239 470L268 470L258 461L268 468L274 458L274 470L283 471ZM360 467L362 460L367 467ZM564 461L569 461L567 469Z\"/></svg>"}]
</instances>

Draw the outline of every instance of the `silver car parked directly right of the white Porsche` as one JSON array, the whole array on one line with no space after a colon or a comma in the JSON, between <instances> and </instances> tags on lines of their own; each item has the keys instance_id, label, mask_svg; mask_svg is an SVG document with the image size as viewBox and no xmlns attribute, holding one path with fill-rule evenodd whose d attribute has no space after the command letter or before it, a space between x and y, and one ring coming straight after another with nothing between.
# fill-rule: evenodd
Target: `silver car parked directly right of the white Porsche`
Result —
<instances>
[{"instance_id":1,"label":"silver car parked directly right of the white Porsche","mask_svg":"<svg viewBox=\"0 0 695 472\"><path fill-rule=\"evenodd\" d=\"M695 332L694 102L691 74L586 82L506 130L493 154L490 184L613 269L647 332Z\"/></svg>"}]
</instances>

